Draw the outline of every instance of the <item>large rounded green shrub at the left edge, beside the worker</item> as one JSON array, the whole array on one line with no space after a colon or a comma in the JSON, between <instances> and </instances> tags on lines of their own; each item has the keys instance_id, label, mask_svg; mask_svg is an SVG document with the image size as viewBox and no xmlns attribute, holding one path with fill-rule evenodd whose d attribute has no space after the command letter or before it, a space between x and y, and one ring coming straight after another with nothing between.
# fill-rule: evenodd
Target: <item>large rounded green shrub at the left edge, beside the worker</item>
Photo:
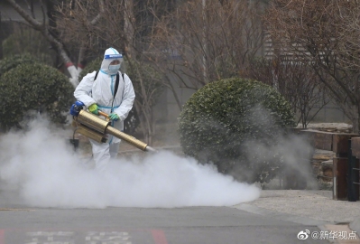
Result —
<instances>
[{"instance_id":1,"label":"large rounded green shrub at the left edge, beside the worker","mask_svg":"<svg viewBox=\"0 0 360 244\"><path fill-rule=\"evenodd\" d=\"M40 63L20 64L0 77L0 124L5 130L20 127L30 111L46 111L52 122L63 124L72 93L59 70Z\"/></svg>"}]
</instances>

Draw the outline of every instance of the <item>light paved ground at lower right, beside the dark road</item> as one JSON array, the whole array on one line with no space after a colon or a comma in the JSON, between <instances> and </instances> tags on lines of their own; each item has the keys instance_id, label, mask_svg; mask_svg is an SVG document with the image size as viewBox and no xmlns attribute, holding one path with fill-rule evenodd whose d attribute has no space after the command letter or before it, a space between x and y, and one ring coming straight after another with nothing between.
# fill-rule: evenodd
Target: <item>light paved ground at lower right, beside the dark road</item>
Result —
<instances>
[{"instance_id":1,"label":"light paved ground at lower right, beside the dark road","mask_svg":"<svg viewBox=\"0 0 360 244\"><path fill-rule=\"evenodd\" d=\"M283 221L316 224L330 242L360 243L360 202L332 200L331 191L264 190L256 201L234 207ZM343 231L347 237L355 233L356 240L340 238Z\"/></svg>"}]
</instances>

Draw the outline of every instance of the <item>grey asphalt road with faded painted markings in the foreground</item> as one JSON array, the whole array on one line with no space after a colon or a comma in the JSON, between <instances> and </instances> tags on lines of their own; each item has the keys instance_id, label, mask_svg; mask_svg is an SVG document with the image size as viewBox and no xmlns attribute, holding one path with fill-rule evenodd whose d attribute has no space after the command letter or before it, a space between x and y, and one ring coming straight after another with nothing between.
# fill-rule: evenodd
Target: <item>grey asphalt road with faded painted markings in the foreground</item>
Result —
<instances>
[{"instance_id":1,"label":"grey asphalt road with faded painted markings in the foreground","mask_svg":"<svg viewBox=\"0 0 360 244\"><path fill-rule=\"evenodd\" d=\"M233 207L97 210L6 204L0 211L0 244L328 243L297 238L300 231L320 231L317 226Z\"/></svg>"}]
</instances>

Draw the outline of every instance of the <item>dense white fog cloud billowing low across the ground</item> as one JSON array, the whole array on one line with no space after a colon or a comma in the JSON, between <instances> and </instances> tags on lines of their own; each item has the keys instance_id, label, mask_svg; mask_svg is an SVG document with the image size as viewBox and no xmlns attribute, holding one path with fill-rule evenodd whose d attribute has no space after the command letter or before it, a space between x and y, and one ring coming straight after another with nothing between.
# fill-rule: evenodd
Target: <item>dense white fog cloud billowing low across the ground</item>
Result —
<instances>
[{"instance_id":1,"label":"dense white fog cloud billowing low across the ground","mask_svg":"<svg viewBox=\"0 0 360 244\"><path fill-rule=\"evenodd\" d=\"M27 133L0 136L2 198L15 195L17 202L34 207L174 208L231 206L260 196L255 185L167 151L120 157L98 173L80 164L66 143L68 135L38 118Z\"/></svg>"}]
</instances>

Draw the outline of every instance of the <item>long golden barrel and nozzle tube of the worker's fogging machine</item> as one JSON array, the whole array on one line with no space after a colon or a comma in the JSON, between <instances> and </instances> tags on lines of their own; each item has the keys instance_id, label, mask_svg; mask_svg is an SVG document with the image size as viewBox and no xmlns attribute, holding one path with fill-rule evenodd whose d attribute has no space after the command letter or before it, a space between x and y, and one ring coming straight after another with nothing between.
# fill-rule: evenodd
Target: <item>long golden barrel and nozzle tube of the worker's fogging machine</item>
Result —
<instances>
[{"instance_id":1,"label":"long golden barrel and nozzle tube of the worker's fogging machine","mask_svg":"<svg viewBox=\"0 0 360 244\"><path fill-rule=\"evenodd\" d=\"M88 127L89 129L93 129L100 134L110 134L112 136L125 140L125 142L127 142L128 144L134 145L135 147L145 152L156 152L154 148L136 139L134 136L129 136L124 132L115 129L115 127L111 127L110 121L106 121L100 117L97 117L96 115L93 115L86 110L80 110L78 112L78 116L75 119L81 125ZM81 131L79 133L81 134Z\"/></svg>"}]
</instances>

